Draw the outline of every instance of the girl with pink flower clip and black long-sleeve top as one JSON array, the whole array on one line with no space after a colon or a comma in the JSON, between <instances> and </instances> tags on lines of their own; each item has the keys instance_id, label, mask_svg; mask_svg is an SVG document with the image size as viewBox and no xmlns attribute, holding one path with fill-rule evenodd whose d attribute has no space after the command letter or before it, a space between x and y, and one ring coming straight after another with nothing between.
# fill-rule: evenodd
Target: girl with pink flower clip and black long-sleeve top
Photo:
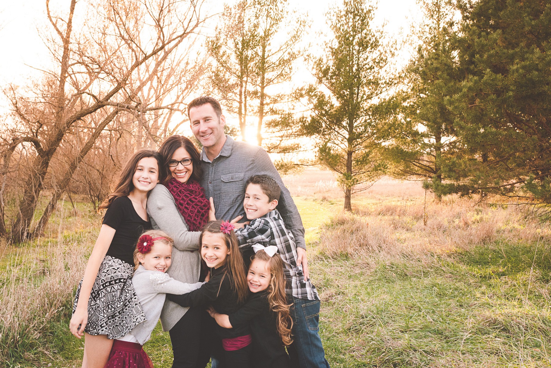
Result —
<instances>
[{"instance_id":1,"label":"girl with pink flower clip and black long-sleeve top","mask_svg":"<svg viewBox=\"0 0 551 368\"><path fill-rule=\"evenodd\" d=\"M199 243L201 257L210 268L210 279L191 293L167 294L169 300L181 306L203 309L212 305L223 314L231 314L245 304L249 288L234 228L234 224L229 222L210 221L206 224L199 236ZM252 352L249 326L213 328L222 339L222 347L217 345L219 342L213 341L211 350L213 355L222 361L224 368L249 367L249 356Z\"/></svg>"}]
</instances>

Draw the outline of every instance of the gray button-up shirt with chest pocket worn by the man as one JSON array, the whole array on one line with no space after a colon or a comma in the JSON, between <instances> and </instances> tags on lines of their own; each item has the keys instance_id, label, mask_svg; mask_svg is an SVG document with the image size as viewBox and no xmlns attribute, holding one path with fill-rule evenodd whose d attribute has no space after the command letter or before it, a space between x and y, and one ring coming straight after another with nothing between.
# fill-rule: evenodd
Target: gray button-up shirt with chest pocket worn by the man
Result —
<instances>
[{"instance_id":1,"label":"gray button-up shirt with chest pocket worn by the man","mask_svg":"<svg viewBox=\"0 0 551 368\"><path fill-rule=\"evenodd\" d=\"M268 153L262 147L237 142L226 136L222 151L212 162L208 160L203 148L201 166L201 185L205 190L205 196L213 197L216 218L228 221L239 215L244 215L242 221L247 219L243 208L247 179L253 175L268 175L275 179L281 188L277 209L283 217L285 226L293 233L296 246L306 248L299 210Z\"/></svg>"}]
</instances>

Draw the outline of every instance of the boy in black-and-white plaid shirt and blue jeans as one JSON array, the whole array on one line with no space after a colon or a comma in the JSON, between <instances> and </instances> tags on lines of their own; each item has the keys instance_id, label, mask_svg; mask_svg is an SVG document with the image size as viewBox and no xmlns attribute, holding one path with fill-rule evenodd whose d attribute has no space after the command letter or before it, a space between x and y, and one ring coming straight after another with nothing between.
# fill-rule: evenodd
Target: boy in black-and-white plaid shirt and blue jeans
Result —
<instances>
[{"instance_id":1,"label":"boy in black-and-white plaid shirt and blue jeans","mask_svg":"<svg viewBox=\"0 0 551 368\"><path fill-rule=\"evenodd\" d=\"M276 210L280 193L276 180L267 175L249 178L243 207L251 222L244 228L235 229L235 234L246 259L253 244L277 246L285 266L287 298L293 304L290 313L294 342L288 347L291 362L302 368L328 368L318 333L320 298L314 285L304 277L302 267L296 264L295 238Z\"/></svg>"}]
</instances>

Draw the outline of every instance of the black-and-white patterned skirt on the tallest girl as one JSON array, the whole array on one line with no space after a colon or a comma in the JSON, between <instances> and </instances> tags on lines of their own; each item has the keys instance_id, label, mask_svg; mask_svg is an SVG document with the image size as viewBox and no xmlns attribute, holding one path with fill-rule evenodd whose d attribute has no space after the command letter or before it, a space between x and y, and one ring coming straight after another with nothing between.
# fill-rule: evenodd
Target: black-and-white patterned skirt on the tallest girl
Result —
<instances>
[{"instance_id":1,"label":"black-and-white patterned skirt on the tallest girl","mask_svg":"<svg viewBox=\"0 0 551 368\"><path fill-rule=\"evenodd\" d=\"M88 300L88 323L84 332L117 339L146 320L132 286L133 273L134 267L128 263L105 256ZM80 287L82 280L74 296L73 313L77 308Z\"/></svg>"}]
</instances>

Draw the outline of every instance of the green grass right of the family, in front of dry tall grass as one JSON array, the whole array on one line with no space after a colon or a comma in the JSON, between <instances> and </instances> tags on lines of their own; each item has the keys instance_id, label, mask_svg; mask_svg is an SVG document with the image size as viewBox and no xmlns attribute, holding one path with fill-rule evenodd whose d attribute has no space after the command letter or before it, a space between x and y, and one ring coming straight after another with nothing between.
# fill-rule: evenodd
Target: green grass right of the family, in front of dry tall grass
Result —
<instances>
[{"instance_id":1,"label":"green grass right of the family, in front of dry tall grass","mask_svg":"<svg viewBox=\"0 0 551 368\"><path fill-rule=\"evenodd\" d=\"M492 244L416 260L312 262L332 366L551 366L549 248ZM364 269L365 271L361 271ZM321 278L320 278L321 276Z\"/></svg>"}]
</instances>

